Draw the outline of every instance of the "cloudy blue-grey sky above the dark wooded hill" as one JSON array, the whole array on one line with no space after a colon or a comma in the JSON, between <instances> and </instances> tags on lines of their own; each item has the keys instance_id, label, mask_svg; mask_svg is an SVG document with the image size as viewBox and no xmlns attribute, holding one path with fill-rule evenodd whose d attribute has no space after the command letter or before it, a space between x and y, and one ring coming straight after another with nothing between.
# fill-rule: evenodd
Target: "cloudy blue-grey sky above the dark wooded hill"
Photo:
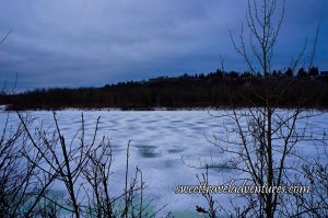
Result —
<instances>
[{"instance_id":1,"label":"cloudy blue-grey sky above the dark wooded hill","mask_svg":"<svg viewBox=\"0 0 328 218\"><path fill-rule=\"evenodd\" d=\"M0 82L101 87L213 71L220 56L225 69L247 70L229 34L239 33L245 10L246 0L0 0L0 37L12 31L0 45ZM315 65L328 70L327 0L286 0L273 66L288 66L306 37L309 51L319 22Z\"/></svg>"}]
</instances>

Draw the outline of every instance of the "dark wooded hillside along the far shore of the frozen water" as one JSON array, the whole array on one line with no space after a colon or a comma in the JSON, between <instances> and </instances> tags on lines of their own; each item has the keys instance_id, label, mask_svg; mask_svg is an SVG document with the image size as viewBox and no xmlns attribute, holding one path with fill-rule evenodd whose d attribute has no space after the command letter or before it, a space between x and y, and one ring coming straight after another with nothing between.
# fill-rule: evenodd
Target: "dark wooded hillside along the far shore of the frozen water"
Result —
<instances>
[{"instance_id":1,"label":"dark wooded hillside along the far shore of the frozen water","mask_svg":"<svg viewBox=\"0 0 328 218\"><path fill-rule=\"evenodd\" d=\"M318 68L297 73L289 68L270 74L216 70L210 73L184 73L142 81L118 82L103 88L36 89L2 96L0 104L12 110L60 110L67 107L151 110L155 107L238 107L251 106L257 93L269 87L286 89L281 107L328 106L328 78ZM300 105L300 97L303 99Z\"/></svg>"}]
</instances>

